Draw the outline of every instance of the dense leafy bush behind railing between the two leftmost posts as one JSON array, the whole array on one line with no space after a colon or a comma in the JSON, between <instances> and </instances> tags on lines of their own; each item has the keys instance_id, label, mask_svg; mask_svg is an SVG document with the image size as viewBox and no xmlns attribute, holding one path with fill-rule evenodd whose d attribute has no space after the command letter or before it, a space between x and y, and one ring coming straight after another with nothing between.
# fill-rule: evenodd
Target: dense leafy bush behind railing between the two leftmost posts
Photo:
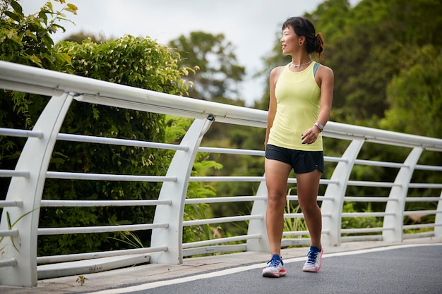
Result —
<instances>
[{"instance_id":1,"label":"dense leafy bush behind railing between the two leftmost posts","mask_svg":"<svg viewBox=\"0 0 442 294\"><path fill-rule=\"evenodd\" d=\"M82 44L60 42L59 54L71 56L61 65L68 73L141 87L157 92L184 94L188 86L181 79L179 56L149 38L126 35L106 43L85 40ZM160 114L73 102L62 133L81 133L131 140L165 142L165 118ZM158 149L57 142L49 169L85 173L114 173L164 176L172 153ZM44 197L82 200L157 199L160 183L47 180ZM155 207L44 208L40 226L103 226L151 223ZM110 238L109 238L110 235ZM137 233L143 244L150 232ZM63 254L112 250L127 247L118 234L43 236L40 254Z\"/></svg>"}]
</instances>

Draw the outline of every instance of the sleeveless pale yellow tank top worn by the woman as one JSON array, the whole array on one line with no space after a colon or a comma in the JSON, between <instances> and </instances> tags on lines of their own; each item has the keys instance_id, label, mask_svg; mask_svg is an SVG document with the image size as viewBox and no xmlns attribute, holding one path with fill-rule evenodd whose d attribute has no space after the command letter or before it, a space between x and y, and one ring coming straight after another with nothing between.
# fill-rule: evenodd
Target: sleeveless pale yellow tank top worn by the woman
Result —
<instances>
[{"instance_id":1,"label":"sleeveless pale yellow tank top worn by the woman","mask_svg":"<svg viewBox=\"0 0 442 294\"><path fill-rule=\"evenodd\" d=\"M313 144L302 144L304 130L316 123L319 115L321 89L316 84L313 61L304 71L294 73L289 64L282 69L275 86L277 102L275 120L268 144L288 149L322 151L322 134Z\"/></svg>"}]
</instances>

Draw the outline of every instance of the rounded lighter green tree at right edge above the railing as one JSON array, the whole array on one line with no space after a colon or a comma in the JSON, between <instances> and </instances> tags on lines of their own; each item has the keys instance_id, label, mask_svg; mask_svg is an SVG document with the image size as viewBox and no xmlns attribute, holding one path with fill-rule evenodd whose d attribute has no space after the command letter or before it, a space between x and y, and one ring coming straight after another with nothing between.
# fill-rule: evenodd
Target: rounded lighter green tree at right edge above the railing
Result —
<instances>
[{"instance_id":1,"label":"rounded lighter green tree at right edge above the railing","mask_svg":"<svg viewBox=\"0 0 442 294\"><path fill-rule=\"evenodd\" d=\"M390 105L381 126L402 133L442 137L442 51L428 45L415 49L412 59L388 84Z\"/></svg>"}]
</instances>

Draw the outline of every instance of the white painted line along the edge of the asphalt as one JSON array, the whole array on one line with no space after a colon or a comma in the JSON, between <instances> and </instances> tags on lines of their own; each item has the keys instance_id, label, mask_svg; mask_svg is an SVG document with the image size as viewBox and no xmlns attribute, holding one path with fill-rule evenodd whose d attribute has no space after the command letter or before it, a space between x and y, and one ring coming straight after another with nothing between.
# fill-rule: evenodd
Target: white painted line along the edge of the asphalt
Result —
<instances>
[{"instance_id":1,"label":"white painted line along the edge of the asphalt","mask_svg":"<svg viewBox=\"0 0 442 294\"><path fill-rule=\"evenodd\" d=\"M362 249L362 250L353 250L353 251L344 251L344 252L336 252L336 253L325 253L323 255L323 258L328 257L337 257L337 256L345 256L345 255L359 255L364 253L371 253L371 252L378 252L378 251L385 251L385 250L394 250L399 248L407 248L407 247L420 247L420 246L434 246L434 245L441 245L440 243L431 243L431 244L404 244L404 245L392 245L392 246L386 246L386 247L375 247L370 249ZM290 259L285 259L284 263L289 264L292 262L302 262L305 260L305 257L295 257ZM157 282L150 282L150 283L143 283L136 286L129 286L125 288L117 288L117 289L108 289L108 290L100 290L96 292L90 292L93 294L121 294L121 293L131 293L141 290L148 290L153 289L161 286L169 286L169 285L175 285L178 283L186 283L196 280L201 280L203 278L215 278L217 276L226 276L228 274L237 274L240 271L249 271L251 269L260 269L265 267L265 263L260 264L253 264L245 267L234 267L232 269L223 269L221 271L213 271L207 274L198 274L195 276L186 276L184 278L174 278L172 280L166 280L166 281L157 281Z\"/></svg>"}]
</instances>

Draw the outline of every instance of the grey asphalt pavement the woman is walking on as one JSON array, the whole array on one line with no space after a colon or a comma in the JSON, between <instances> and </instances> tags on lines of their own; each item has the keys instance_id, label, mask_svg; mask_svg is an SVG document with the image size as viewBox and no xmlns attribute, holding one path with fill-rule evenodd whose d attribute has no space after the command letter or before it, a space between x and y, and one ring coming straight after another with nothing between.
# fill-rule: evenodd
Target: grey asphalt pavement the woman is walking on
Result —
<instances>
[{"instance_id":1,"label":"grey asphalt pavement the woman is walking on","mask_svg":"<svg viewBox=\"0 0 442 294\"><path fill-rule=\"evenodd\" d=\"M249 269L132 293L442 293L442 245L324 255L316 274L301 271L302 264L286 262L287 276L280 278L263 278L261 268Z\"/></svg>"}]
</instances>

